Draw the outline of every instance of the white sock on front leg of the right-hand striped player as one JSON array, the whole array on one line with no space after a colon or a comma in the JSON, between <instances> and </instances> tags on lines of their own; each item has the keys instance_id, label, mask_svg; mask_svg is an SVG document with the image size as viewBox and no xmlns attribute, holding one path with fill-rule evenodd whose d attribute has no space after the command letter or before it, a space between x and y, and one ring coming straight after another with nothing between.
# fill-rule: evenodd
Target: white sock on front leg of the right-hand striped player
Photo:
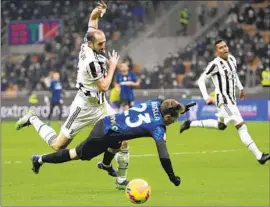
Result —
<instances>
[{"instance_id":1,"label":"white sock on front leg of the right-hand striped player","mask_svg":"<svg viewBox=\"0 0 270 207\"><path fill-rule=\"evenodd\" d=\"M258 149L253 139L250 137L248 133L247 126L244 124L238 129L239 136L241 141L247 148L255 155L256 159L259 160L262 157L262 152Z\"/></svg>"}]
</instances>

